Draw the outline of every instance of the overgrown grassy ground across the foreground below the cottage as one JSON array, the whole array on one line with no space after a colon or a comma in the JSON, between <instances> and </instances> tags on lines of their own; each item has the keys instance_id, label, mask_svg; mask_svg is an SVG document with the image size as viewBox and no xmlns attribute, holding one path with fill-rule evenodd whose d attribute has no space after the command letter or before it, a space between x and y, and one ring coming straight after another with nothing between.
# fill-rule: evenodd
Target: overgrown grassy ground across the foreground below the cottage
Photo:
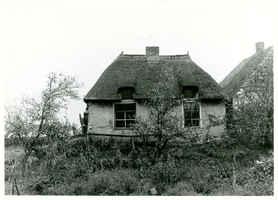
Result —
<instances>
[{"instance_id":1,"label":"overgrown grassy ground across the foreground below the cottage","mask_svg":"<svg viewBox=\"0 0 278 200\"><path fill-rule=\"evenodd\" d=\"M144 159L130 144L53 143L42 155L31 156L25 178L16 165L23 149L9 147L5 194L12 194L16 177L21 195L273 195L271 151L241 148L234 162L230 146L218 145L188 149L175 144L167 158L140 170L137 161Z\"/></svg>"}]
</instances>

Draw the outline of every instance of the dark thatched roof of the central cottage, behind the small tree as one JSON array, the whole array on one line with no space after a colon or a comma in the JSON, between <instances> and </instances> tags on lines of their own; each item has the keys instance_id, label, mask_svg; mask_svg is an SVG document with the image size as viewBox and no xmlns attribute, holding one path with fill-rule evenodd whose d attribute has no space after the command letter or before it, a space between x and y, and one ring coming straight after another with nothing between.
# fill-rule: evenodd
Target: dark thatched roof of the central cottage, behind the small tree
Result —
<instances>
[{"instance_id":1,"label":"dark thatched roof of the central cottage, behind the small tree","mask_svg":"<svg viewBox=\"0 0 278 200\"><path fill-rule=\"evenodd\" d=\"M102 73L84 101L120 100L117 93L120 87L134 87L135 99L148 99L148 91L159 81L163 67L174 69L173 94L181 94L183 86L197 86L199 99L224 98L219 84L187 54L158 56L157 59L149 61L145 55L121 53Z\"/></svg>"}]
</instances>

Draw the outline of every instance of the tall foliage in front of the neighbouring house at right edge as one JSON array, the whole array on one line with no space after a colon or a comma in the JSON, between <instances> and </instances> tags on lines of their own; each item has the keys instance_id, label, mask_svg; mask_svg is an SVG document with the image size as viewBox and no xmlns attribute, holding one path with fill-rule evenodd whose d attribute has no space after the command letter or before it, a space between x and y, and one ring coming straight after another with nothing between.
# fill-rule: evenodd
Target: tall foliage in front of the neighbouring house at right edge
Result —
<instances>
[{"instance_id":1,"label":"tall foliage in front of the neighbouring house at right edge","mask_svg":"<svg viewBox=\"0 0 278 200\"><path fill-rule=\"evenodd\" d=\"M228 131L239 143L250 146L273 146L273 55L250 72L251 78L229 102Z\"/></svg>"}]
</instances>

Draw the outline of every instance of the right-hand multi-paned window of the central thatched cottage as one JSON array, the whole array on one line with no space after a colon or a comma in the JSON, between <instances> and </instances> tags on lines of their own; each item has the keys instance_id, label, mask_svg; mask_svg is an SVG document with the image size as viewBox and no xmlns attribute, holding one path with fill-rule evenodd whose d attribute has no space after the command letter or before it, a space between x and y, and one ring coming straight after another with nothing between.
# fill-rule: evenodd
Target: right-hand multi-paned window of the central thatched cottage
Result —
<instances>
[{"instance_id":1,"label":"right-hand multi-paned window of the central thatched cottage","mask_svg":"<svg viewBox=\"0 0 278 200\"><path fill-rule=\"evenodd\" d=\"M184 126L199 126L200 112L198 102L184 102Z\"/></svg>"}]
</instances>

